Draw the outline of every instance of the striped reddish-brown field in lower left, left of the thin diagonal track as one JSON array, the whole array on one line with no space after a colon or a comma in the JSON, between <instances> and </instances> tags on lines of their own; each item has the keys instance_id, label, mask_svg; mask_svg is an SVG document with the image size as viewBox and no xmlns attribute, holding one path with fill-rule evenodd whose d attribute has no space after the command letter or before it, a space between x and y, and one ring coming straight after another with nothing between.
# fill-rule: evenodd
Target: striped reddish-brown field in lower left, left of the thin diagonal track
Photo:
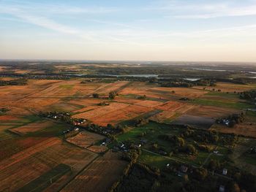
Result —
<instances>
[{"instance_id":1,"label":"striped reddish-brown field in lower left, left of the thin diagonal track","mask_svg":"<svg viewBox=\"0 0 256 192\"><path fill-rule=\"evenodd\" d=\"M1 161L0 191L22 188L61 163L72 167L73 172L78 172L95 157L95 153L71 147L60 139L47 139Z\"/></svg>"}]
</instances>

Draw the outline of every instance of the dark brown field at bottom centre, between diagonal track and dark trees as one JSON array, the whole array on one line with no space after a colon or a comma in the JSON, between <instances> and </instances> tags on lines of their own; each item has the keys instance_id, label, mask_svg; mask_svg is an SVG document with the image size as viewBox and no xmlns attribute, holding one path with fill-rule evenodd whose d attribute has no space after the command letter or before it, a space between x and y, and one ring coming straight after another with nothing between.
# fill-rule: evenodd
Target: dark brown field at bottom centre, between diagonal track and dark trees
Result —
<instances>
[{"instance_id":1,"label":"dark brown field at bottom centre, between diagonal track and dark trees","mask_svg":"<svg viewBox=\"0 0 256 192\"><path fill-rule=\"evenodd\" d=\"M97 158L61 191L107 192L121 177L126 161L119 159L118 153L108 152Z\"/></svg>"}]
</instances>

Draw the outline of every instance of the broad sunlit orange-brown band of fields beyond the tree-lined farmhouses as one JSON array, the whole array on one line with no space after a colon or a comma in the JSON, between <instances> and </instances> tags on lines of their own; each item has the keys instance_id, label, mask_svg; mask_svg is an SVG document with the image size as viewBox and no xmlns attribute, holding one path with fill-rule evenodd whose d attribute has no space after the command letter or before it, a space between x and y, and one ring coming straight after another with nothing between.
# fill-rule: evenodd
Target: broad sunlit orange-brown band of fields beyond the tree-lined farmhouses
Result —
<instances>
[{"instance_id":1,"label":"broad sunlit orange-brown band of fields beyond the tree-lined farmhouses","mask_svg":"<svg viewBox=\"0 0 256 192\"><path fill-rule=\"evenodd\" d=\"M113 101L105 98L109 91L118 91L118 96ZM100 98L94 99L92 93L99 93ZM144 95L146 99L138 99L138 96ZM12 109L8 112L10 118L12 115L31 115L39 111L66 111L71 112L73 118L85 118L99 126L106 126L109 123L116 125L152 110L162 112L153 115L151 120L170 123L185 114L196 113L201 117L206 116L206 110L211 110L211 118L217 118L233 109L250 107L234 93L196 88L162 88L146 82L126 81L82 84L79 80L29 80L29 84L22 89L19 86L4 87L0 91L0 96L4 99L3 107L8 106ZM178 101L181 97L195 101ZM110 105L98 106L103 101L109 102Z\"/></svg>"}]
</instances>

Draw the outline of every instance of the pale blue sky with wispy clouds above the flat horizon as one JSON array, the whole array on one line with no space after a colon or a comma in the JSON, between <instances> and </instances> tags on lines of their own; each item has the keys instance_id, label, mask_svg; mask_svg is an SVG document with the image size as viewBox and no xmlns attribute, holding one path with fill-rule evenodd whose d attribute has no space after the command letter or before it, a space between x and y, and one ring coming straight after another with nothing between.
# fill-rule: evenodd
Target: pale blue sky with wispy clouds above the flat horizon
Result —
<instances>
[{"instance_id":1,"label":"pale blue sky with wispy clouds above the flat horizon","mask_svg":"<svg viewBox=\"0 0 256 192\"><path fill-rule=\"evenodd\" d=\"M256 62L256 0L0 0L0 59Z\"/></svg>"}]
</instances>

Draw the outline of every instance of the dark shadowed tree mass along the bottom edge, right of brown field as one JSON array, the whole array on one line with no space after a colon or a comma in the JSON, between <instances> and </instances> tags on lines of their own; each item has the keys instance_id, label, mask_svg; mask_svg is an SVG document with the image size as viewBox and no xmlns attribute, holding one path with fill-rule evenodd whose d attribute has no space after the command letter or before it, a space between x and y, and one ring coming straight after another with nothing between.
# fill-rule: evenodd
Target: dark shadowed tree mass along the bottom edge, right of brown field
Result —
<instances>
[{"instance_id":1,"label":"dark shadowed tree mass along the bottom edge, right of brown field","mask_svg":"<svg viewBox=\"0 0 256 192\"><path fill-rule=\"evenodd\" d=\"M207 169L190 167L187 174L182 177L173 177L172 172L177 172L181 164L177 164L172 171L167 168L159 169L141 163L133 164L128 172L124 172L121 180L110 189L113 191L219 191L219 185L225 186L225 191L241 192L255 191L255 175L240 173L234 174L234 180L212 176ZM126 170L127 171L127 170ZM169 177L172 175L172 177Z\"/></svg>"}]
</instances>

